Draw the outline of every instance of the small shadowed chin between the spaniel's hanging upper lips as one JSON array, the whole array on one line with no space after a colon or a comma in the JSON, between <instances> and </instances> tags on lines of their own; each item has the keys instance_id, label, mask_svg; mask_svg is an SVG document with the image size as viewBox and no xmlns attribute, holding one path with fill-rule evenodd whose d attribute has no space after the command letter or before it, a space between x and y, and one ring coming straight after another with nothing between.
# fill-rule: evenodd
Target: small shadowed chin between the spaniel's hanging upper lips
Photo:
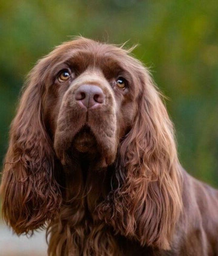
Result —
<instances>
[{"instance_id":1,"label":"small shadowed chin between the spaniel's hanging upper lips","mask_svg":"<svg viewBox=\"0 0 218 256\"><path fill-rule=\"evenodd\" d=\"M90 155L97 153L96 138L88 126L82 128L75 135L72 146L79 153L88 153Z\"/></svg>"}]
</instances>

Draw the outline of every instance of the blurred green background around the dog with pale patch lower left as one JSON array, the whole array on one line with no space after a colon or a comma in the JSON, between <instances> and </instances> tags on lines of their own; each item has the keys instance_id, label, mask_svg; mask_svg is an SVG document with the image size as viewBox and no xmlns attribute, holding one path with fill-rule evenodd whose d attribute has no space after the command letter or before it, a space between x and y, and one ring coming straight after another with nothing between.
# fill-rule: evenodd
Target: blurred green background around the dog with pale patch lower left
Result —
<instances>
[{"instance_id":1,"label":"blurred green background around the dog with pale patch lower left","mask_svg":"<svg viewBox=\"0 0 218 256\"><path fill-rule=\"evenodd\" d=\"M211 0L0 0L0 161L25 75L74 35L139 44L134 55L169 98L183 167L218 187L218 4ZM27 243L0 226L0 255L45 255L38 235ZM16 252L5 246L9 238Z\"/></svg>"}]
</instances>

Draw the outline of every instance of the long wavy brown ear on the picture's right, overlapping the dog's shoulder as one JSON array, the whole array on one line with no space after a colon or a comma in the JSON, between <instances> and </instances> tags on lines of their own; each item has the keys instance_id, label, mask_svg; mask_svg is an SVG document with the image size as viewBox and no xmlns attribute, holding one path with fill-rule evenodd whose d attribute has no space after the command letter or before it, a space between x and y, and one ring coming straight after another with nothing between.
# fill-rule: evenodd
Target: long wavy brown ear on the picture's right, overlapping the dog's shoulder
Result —
<instances>
[{"instance_id":1,"label":"long wavy brown ear on the picture's right, overlapping the dog's shoulder","mask_svg":"<svg viewBox=\"0 0 218 256\"><path fill-rule=\"evenodd\" d=\"M148 71L143 67L140 71L143 87L137 116L119 149L117 187L100 215L107 212L105 221L142 246L169 249L182 209L180 164L173 125L160 94Z\"/></svg>"}]
</instances>

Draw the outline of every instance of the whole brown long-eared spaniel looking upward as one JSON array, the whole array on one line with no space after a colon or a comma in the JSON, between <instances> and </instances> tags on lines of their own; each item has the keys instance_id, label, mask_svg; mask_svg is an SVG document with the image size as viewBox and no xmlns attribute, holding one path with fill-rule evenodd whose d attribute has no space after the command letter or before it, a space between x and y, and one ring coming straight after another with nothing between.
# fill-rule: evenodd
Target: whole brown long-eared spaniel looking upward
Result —
<instances>
[{"instance_id":1,"label":"whole brown long-eared spaniel looking upward","mask_svg":"<svg viewBox=\"0 0 218 256\"><path fill-rule=\"evenodd\" d=\"M76 38L33 68L10 130L3 217L49 255L218 255L218 192L177 157L146 68Z\"/></svg>"}]
</instances>

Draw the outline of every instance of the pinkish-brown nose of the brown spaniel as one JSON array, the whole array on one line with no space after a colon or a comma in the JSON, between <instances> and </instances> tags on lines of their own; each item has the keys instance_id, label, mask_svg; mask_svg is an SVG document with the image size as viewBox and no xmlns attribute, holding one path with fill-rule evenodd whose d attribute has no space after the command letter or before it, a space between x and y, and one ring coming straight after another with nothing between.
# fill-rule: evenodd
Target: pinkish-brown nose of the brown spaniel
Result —
<instances>
[{"instance_id":1,"label":"pinkish-brown nose of the brown spaniel","mask_svg":"<svg viewBox=\"0 0 218 256\"><path fill-rule=\"evenodd\" d=\"M96 85L81 85L75 91L75 99L86 108L95 108L104 103L105 95Z\"/></svg>"}]
</instances>

